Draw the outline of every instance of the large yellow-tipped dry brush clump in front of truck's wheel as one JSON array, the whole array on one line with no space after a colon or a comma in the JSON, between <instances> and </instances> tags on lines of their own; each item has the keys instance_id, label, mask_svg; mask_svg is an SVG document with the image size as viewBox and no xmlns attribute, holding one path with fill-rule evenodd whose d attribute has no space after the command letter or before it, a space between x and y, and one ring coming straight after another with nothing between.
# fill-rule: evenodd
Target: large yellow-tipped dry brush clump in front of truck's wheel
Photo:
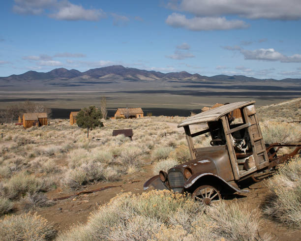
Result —
<instances>
[{"instance_id":1,"label":"large yellow-tipped dry brush clump in front of truck's wheel","mask_svg":"<svg viewBox=\"0 0 301 241\"><path fill-rule=\"evenodd\" d=\"M58 240L262 240L258 213L246 210L221 204L204 212L190 197L167 190L123 193Z\"/></svg>"}]
</instances>

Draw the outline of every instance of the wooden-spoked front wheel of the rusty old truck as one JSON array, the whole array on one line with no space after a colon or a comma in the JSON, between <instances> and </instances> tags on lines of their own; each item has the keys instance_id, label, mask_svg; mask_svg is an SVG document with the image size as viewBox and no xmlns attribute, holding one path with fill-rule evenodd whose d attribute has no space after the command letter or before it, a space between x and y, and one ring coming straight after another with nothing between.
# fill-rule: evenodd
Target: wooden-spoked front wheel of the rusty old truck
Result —
<instances>
[{"instance_id":1,"label":"wooden-spoked front wheel of the rusty old truck","mask_svg":"<svg viewBox=\"0 0 301 241\"><path fill-rule=\"evenodd\" d=\"M221 201L219 191L215 187L210 185L199 186L192 193L192 197L205 205L211 205L212 203L220 203Z\"/></svg>"}]
</instances>

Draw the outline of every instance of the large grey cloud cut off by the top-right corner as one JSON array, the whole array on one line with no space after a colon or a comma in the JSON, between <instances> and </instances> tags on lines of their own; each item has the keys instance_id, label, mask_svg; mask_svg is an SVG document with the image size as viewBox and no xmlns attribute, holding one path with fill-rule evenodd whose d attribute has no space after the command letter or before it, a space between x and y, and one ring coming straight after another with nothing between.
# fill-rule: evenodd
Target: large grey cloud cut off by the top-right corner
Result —
<instances>
[{"instance_id":1,"label":"large grey cloud cut off by the top-right corner","mask_svg":"<svg viewBox=\"0 0 301 241\"><path fill-rule=\"evenodd\" d=\"M175 9L175 2L170 1ZM178 10L196 16L238 15L248 19L301 19L300 0L181 0Z\"/></svg>"}]
</instances>

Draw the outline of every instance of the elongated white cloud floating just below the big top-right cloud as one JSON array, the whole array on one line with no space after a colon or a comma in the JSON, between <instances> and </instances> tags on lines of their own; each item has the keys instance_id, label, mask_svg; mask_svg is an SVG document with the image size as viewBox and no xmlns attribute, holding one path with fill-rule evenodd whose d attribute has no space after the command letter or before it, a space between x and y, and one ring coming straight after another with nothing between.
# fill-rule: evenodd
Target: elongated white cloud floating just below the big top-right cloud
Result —
<instances>
[{"instance_id":1,"label":"elongated white cloud floating just below the big top-right cloud","mask_svg":"<svg viewBox=\"0 0 301 241\"><path fill-rule=\"evenodd\" d=\"M245 29L248 25L241 20L227 20L225 17L193 17L187 19L180 13L172 13L165 21L174 28L192 31Z\"/></svg>"}]
</instances>

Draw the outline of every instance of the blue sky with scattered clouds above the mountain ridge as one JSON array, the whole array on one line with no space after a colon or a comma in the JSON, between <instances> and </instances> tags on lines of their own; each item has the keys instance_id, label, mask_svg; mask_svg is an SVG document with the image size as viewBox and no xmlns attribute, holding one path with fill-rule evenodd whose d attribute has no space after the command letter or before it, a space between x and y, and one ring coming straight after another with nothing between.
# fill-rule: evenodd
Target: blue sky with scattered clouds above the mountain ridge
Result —
<instances>
[{"instance_id":1,"label":"blue sky with scattered clouds above the mountain ridge","mask_svg":"<svg viewBox=\"0 0 301 241\"><path fill-rule=\"evenodd\" d=\"M0 76L121 64L301 78L300 0L1 1Z\"/></svg>"}]
</instances>

